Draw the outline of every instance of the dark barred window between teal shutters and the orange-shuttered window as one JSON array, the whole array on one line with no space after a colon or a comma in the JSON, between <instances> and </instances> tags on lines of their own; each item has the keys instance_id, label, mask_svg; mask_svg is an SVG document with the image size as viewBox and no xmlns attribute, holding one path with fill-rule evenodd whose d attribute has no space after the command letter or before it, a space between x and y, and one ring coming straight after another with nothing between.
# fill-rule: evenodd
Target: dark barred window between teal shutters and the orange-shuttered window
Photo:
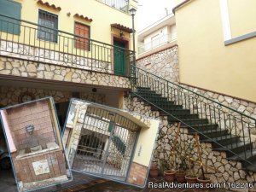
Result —
<instances>
[{"instance_id":1,"label":"dark barred window between teal shutters and the orange-shuttered window","mask_svg":"<svg viewBox=\"0 0 256 192\"><path fill-rule=\"evenodd\" d=\"M45 14L45 15L49 16L50 18L55 19L54 20L54 29L50 29L50 26L43 26L42 24L39 24L40 20L42 20L40 18L41 14ZM46 21L49 21L49 20L46 20ZM44 29L43 27L46 27L46 32L47 32L47 30L53 32L53 34L50 34L49 38L41 37L40 32L44 32L44 31L42 31L42 29ZM59 15L52 14L49 11L45 11L43 9L38 9L38 39L57 44L58 43L58 31L59 31L58 27L59 27ZM53 37L51 35L53 35Z\"/></svg>"}]
</instances>

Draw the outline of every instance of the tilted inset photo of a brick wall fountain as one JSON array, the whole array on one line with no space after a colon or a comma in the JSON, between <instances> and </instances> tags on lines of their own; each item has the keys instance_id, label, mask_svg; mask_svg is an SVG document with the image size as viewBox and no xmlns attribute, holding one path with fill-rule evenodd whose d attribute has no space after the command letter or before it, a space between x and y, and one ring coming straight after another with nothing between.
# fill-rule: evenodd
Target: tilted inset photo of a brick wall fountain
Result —
<instances>
[{"instance_id":1,"label":"tilted inset photo of a brick wall fountain","mask_svg":"<svg viewBox=\"0 0 256 192\"><path fill-rule=\"evenodd\" d=\"M20 192L72 180L52 98L3 108L0 113L9 148L6 156Z\"/></svg>"}]
</instances>

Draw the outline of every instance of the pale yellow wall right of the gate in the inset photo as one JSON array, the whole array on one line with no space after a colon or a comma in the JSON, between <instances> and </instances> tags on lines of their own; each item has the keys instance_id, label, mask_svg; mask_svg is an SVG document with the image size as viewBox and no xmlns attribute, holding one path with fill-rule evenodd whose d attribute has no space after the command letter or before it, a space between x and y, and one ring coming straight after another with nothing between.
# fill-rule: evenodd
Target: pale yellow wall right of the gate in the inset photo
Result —
<instances>
[{"instance_id":1,"label":"pale yellow wall right of the gate in the inset photo","mask_svg":"<svg viewBox=\"0 0 256 192\"><path fill-rule=\"evenodd\" d=\"M151 119L150 127L143 127L141 129L137 140L137 147L135 149L133 162L143 166L149 166L151 155L154 149L155 138L159 129L159 124L159 120Z\"/></svg>"}]
</instances>

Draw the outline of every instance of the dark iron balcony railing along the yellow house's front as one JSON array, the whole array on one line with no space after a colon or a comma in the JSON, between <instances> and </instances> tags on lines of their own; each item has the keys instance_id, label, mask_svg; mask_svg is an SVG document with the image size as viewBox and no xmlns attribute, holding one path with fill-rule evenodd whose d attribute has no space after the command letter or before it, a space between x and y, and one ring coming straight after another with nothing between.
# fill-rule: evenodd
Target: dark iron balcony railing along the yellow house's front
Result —
<instances>
[{"instance_id":1,"label":"dark iron balcony railing along the yellow house's front","mask_svg":"<svg viewBox=\"0 0 256 192\"><path fill-rule=\"evenodd\" d=\"M133 52L0 15L0 55L130 77ZM122 61L125 68L115 68L116 61Z\"/></svg>"}]
</instances>

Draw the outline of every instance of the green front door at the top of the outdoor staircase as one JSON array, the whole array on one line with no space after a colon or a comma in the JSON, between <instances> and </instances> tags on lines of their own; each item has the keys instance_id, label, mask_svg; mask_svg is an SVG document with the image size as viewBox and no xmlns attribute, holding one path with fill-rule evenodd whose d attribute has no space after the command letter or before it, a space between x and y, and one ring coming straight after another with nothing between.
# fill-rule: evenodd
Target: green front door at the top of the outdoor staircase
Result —
<instances>
[{"instance_id":1,"label":"green front door at the top of the outdoor staircase","mask_svg":"<svg viewBox=\"0 0 256 192\"><path fill-rule=\"evenodd\" d=\"M125 75L125 44L113 41L113 71L116 75ZM122 49L123 48L123 49Z\"/></svg>"}]
</instances>

